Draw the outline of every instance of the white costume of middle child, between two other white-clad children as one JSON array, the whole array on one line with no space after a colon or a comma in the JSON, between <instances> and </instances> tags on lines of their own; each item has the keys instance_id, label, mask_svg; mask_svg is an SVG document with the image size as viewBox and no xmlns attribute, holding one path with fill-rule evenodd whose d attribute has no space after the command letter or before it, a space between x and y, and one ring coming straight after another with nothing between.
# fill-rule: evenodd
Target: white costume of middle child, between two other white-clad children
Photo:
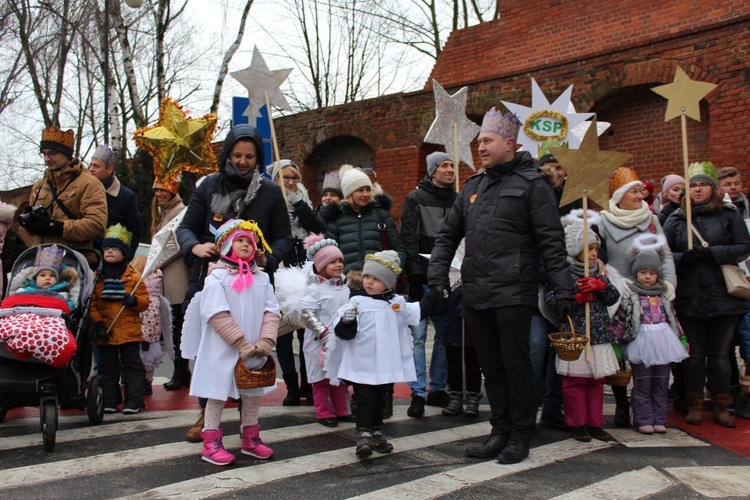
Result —
<instances>
[{"instance_id":1,"label":"white costume of middle child, between two other white-clad children","mask_svg":"<svg viewBox=\"0 0 750 500\"><path fill-rule=\"evenodd\" d=\"M321 282L317 277L315 279L315 282L307 286L300 309L317 311L320 322L328 327L329 339L333 339L336 313L349 300L350 290L346 285L334 285L330 280ZM311 384L328 377L325 370L318 364L318 351L320 351L321 345L320 340L315 340L315 333L309 328L305 329L305 341L302 344L302 350L305 354L307 381Z\"/></svg>"}]
</instances>

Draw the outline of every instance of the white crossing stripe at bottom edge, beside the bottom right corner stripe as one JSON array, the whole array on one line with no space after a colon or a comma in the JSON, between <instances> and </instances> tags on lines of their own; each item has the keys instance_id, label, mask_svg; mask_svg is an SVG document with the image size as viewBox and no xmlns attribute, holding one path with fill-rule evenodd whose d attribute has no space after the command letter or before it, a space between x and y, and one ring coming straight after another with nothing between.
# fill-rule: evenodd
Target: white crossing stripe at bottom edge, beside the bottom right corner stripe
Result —
<instances>
[{"instance_id":1,"label":"white crossing stripe at bottom edge, beside the bottom right corner stripe","mask_svg":"<svg viewBox=\"0 0 750 500\"><path fill-rule=\"evenodd\" d=\"M611 498L644 498L655 495L674 483L651 466L617 474L603 481L554 497L553 500L578 498L609 500Z\"/></svg>"}]
</instances>

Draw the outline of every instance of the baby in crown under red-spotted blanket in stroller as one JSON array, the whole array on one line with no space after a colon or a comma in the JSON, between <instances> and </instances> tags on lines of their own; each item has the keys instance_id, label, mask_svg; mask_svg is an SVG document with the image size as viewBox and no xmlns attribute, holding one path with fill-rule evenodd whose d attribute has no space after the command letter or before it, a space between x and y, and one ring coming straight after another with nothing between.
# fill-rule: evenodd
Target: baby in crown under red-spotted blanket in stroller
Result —
<instances>
[{"instance_id":1,"label":"baby in crown under red-spotted blanket in stroller","mask_svg":"<svg viewBox=\"0 0 750 500\"><path fill-rule=\"evenodd\" d=\"M75 337L66 318L75 309L80 286L78 272L63 265L57 245L40 248L34 265L11 280L12 295L0 303L0 342L21 359L34 357L55 368L75 354Z\"/></svg>"}]
</instances>

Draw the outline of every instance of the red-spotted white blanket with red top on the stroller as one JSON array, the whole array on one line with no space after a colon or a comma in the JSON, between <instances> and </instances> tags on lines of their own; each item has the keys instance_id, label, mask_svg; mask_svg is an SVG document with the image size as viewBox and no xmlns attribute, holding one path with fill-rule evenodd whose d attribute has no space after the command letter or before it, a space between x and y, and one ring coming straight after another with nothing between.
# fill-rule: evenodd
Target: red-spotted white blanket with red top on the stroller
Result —
<instances>
[{"instance_id":1,"label":"red-spotted white blanket with red top on the stroller","mask_svg":"<svg viewBox=\"0 0 750 500\"><path fill-rule=\"evenodd\" d=\"M17 306L59 309L70 314L65 300L49 295L17 294L0 303L3 309ZM0 318L0 342L5 342L8 351L21 359L33 356L55 368L65 366L77 348L64 318L25 312Z\"/></svg>"}]
</instances>

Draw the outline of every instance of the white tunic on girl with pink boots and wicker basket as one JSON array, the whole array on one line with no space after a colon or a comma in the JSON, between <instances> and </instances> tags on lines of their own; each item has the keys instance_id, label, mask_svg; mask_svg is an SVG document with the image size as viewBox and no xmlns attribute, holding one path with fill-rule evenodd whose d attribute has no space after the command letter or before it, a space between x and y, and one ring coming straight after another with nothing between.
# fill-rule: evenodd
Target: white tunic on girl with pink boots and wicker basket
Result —
<instances>
[{"instance_id":1,"label":"white tunic on girl with pink boots and wicker basket","mask_svg":"<svg viewBox=\"0 0 750 500\"><path fill-rule=\"evenodd\" d=\"M240 292L232 288L236 278L237 275L230 274L227 269L215 269L206 277L203 291L195 295L185 314L182 356L196 358L190 383L191 396L223 401L239 398L240 395L263 396L276 389L276 384L257 389L238 389L234 366L240 353L227 344L208 322L215 314L229 311L245 333L247 341L255 344L260 338L263 314L281 314L266 273L254 273L253 285ZM254 370L263 366L265 361L265 357L251 356L245 364Z\"/></svg>"}]
</instances>

